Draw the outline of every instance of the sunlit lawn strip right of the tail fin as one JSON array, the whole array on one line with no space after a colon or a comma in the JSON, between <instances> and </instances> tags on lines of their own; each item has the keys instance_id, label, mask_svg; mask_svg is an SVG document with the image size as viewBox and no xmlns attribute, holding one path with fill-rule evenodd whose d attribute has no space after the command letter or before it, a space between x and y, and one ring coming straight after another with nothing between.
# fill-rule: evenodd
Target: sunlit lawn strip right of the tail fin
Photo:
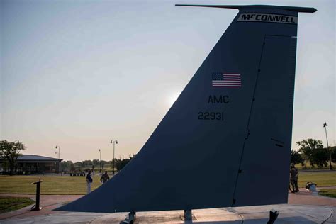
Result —
<instances>
[{"instance_id":1,"label":"sunlit lawn strip right of the tail fin","mask_svg":"<svg viewBox=\"0 0 336 224\"><path fill-rule=\"evenodd\" d=\"M306 187L307 182L317 186L336 186L336 172L298 172L298 187Z\"/></svg>"}]
</instances>

